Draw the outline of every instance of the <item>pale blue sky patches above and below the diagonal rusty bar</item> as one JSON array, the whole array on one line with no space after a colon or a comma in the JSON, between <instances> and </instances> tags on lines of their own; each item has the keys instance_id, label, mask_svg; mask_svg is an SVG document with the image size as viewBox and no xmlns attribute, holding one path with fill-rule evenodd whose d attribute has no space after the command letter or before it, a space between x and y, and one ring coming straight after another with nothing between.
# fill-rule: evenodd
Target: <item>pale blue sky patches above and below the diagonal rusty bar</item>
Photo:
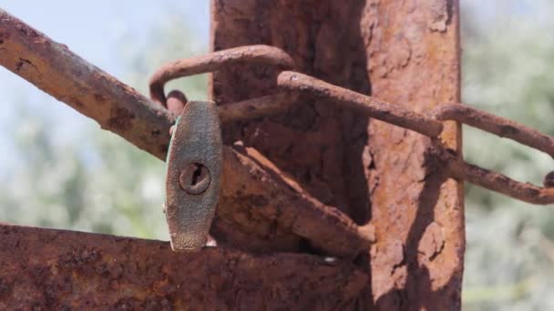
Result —
<instances>
[{"instance_id":1,"label":"pale blue sky patches above and below the diagonal rusty bar","mask_svg":"<svg viewBox=\"0 0 554 311\"><path fill-rule=\"evenodd\" d=\"M210 1L31 1L7 0L0 5L11 15L32 25L56 42L67 45L77 55L97 65L111 75L122 78L124 64L121 42L129 37L140 40L149 30L163 24L162 19L182 15L186 25L201 44L208 46ZM140 46L140 44L137 44ZM146 80L147 78L145 78ZM30 85L0 66L0 176L14 165L11 150L15 109L52 115L56 121L56 139L70 141L71 133L87 119L67 105ZM19 105L17 107L16 105Z\"/></svg>"}]
</instances>

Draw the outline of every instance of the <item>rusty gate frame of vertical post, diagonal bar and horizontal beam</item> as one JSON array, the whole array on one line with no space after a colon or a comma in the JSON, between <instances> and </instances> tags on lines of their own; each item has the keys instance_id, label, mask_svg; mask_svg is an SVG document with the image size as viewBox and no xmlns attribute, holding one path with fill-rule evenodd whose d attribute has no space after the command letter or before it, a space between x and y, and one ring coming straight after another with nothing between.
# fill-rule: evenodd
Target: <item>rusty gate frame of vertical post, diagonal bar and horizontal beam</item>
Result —
<instances>
[{"instance_id":1,"label":"rusty gate frame of vertical post, diagonal bar and horizontal beam","mask_svg":"<svg viewBox=\"0 0 554 311\"><path fill-rule=\"evenodd\" d=\"M460 99L458 17L456 0L212 0L211 41L213 50L275 45L302 72L427 111ZM165 158L173 115L2 10L0 53L16 75ZM212 98L270 94L274 74L231 66L212 75ZM223 247L182 255L166 242L2 225L0 308L459 309L463 189L437 169L428 139L298 102L284 116L225 126L226 186L211 229ZM303 139L272 148L260 131ZM446 123L446 145L459 151L460 135ZM290 157L315 149L321 169ZM344 258L293 254L320 251Z\"/></svg>"}]
</instances>

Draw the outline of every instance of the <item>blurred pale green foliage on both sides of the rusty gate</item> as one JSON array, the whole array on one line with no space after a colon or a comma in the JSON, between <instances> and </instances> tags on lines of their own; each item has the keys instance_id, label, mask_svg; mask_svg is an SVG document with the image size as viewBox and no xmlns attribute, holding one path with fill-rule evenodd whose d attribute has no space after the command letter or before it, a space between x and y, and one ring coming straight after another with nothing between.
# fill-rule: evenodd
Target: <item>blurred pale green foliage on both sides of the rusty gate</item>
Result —
<instances>
[{"instance_id":1,"label":"blurred pale green foliage on both sides of the rusty gate","mask_svg":"<svg viewBox=\"0 0 554 311\"><path fill-rule=\"evenodd\" d=\"M462 1L463 99L554 135L554 4ZM169 18L144 46L122 39L125 81L146 94L162 63L204 52L182 24ZM194 43L197 43L196 45ZM206 76L170 88L206 97ZM88 122L76 143L49 135L48 115L17 110L18 165L3 176L0 219L117 235L168 239L162 214L163 163ZM464 129L467 160L539 184L554 166L549 156ZM466 310L554 309L554 211L467 185Z\"/></svg>"}]
</instances>

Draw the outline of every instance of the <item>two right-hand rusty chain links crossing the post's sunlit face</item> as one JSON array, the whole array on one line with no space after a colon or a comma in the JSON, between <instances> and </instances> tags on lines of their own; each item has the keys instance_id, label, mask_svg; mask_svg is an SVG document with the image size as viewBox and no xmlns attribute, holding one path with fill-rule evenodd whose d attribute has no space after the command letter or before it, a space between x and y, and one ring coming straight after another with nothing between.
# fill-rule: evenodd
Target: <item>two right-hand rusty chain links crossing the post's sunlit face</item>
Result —
<instances>
[{"instance_id":1,"label":"two right-hand rusty chain links crossing the post's sunlit face","mask_svg":"<svg viewBox=\"0 0 554 311\"><path fill-rule=\"evenodd\" d=\"M508 176L468 164L461 158L446 152L445 145L439 139L436 139L436 136L443 131L440 121L454 120L501 137L513 139L554 156L554 138L549 135L544 135L528 126L463 104L442 104L433 109L428 115L423 115L408 110L402 105L386 103L372 96L330 85L309 75L284 71L279 74L277 80L277 84L286 90L323 99L332 99L335 105L348 106L364 115L385 121L391 125L401 126L430 136L433 138L431 149L438 151L435 155L436 161L444 164L441 169L449 173L448 176L477 186L483 186L528 203L538 205L554 203L554 189L551 186L540 187L529 183L521 183ZM549 185L549 182L544 184Z\"/></svg>"}]
</instances>

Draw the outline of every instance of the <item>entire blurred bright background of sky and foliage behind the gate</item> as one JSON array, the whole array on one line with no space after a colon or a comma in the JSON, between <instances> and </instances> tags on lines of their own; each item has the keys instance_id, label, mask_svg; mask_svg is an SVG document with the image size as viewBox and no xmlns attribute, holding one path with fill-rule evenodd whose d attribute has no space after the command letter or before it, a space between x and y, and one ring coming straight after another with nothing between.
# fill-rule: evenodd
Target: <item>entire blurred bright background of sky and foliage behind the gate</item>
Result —
<instances>
[{"instance_id":1,"label":"entire blurred bright background of sky and foliage behind the gate","mask_svg":"<svg viewBox=\"0 0 554 311\"><path fill-rule=\"evenodd\" d=\"M463 99L554 135L554 3L462 0ZM146 94L208 51L209 1L10 0L0 7ZM178 82L206 98L205 77ZM168 239L163 163L0 67L0 219ZM540 184L539 152L464 129L477 163ZM554 210L467 186L465 310L554 310Z\"/></svg>"}]
</instances>

